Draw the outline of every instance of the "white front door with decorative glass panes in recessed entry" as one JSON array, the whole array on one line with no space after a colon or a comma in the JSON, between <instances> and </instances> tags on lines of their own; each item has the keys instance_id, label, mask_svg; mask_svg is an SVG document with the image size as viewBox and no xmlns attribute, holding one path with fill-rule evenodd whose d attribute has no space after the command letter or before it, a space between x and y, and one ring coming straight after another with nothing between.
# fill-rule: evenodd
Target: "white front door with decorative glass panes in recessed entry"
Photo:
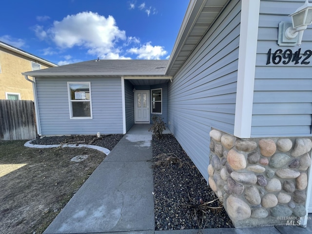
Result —
<instances>
[{"instance_id":1,"label":"white front door with decorative glass panes in recessed entry","mask_svg":"<svg viewBox=\"0 0 312 234\"><path fill-rule=\"evenodd\" d=\"M135 123L150 123L150 91L135 91Z\"/></svg>"}]
</instances>

